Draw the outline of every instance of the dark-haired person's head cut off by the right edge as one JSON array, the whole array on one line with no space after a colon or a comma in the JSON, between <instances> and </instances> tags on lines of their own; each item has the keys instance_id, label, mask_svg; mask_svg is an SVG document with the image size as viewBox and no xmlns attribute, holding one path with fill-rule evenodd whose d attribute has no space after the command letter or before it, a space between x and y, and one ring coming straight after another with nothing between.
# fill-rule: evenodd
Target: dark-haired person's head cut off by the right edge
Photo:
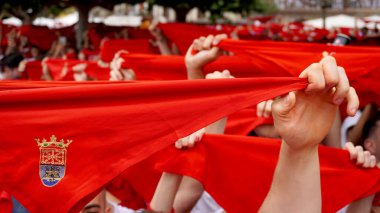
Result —
<instances>
[{"instance_id":1,"label":"dark-haired person's head cut off by the right edge","mask_svg":"<svg viewBox=\"0 0 380 213\"><path fill-rule=\"evenodd\" d=\"M376 159L380 159L380 111L371 117L363 127L363 148L369 151Z\"/></svg>"}]
</instances>

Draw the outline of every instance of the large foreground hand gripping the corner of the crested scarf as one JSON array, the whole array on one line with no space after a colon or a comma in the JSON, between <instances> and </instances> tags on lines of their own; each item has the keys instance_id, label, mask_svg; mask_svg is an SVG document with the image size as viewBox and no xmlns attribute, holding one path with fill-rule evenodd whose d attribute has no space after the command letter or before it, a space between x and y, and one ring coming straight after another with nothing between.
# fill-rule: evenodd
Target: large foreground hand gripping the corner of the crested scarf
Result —
<instances>
[{"instance_id":1,"label":"large foreground hand gripping the corner of the crested scarf","mask_svg":"<svg viewBox=\"0 0 380 213\"><path fill-rule=\"evenodd\" d=\"M327 135L338 106L346 99L347 114L355 115L359 99L342 67L327 56L299 76L309 82L304 91L290 92L272 104L274 126L293 149L315 146Z\"/></svg>"}]
</instances>

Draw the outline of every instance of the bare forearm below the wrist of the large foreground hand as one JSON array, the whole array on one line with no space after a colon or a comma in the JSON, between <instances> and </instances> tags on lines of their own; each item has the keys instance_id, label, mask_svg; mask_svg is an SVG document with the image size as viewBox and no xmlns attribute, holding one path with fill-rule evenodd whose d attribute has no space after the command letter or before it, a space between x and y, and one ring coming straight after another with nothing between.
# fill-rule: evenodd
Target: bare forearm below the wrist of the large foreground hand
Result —
<instances>
[{"instance_id":1,"label":"bare forearm below the wrist of the large foreground hand","mask_svg":"<svg viewBox=\"0 0 380 213\"><path fill-rule=\"evenodd\" d=\"M318 146L292 150L282 142L271 188L260 212L321 212Z\"/></svg>"}]
</instances>

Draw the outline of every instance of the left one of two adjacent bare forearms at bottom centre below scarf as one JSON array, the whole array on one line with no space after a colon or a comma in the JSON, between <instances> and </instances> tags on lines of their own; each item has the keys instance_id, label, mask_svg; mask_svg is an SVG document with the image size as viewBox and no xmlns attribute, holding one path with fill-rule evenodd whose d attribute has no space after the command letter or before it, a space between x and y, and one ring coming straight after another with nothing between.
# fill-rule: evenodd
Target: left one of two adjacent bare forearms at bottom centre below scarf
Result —
<instances>
[{"instance_id":1,"label":"left one of two adjacent bare forearms at bottom centre below scarf","mask_svg":"<svg viewBox=\"0 0 380 213\"><path fill-rule=\"evenodd\" d=\"M152 210L162 213L171 212L181 180L182 176L180 175L166 172L162 173L150 203Z\"/></svg>"}]
</instances>

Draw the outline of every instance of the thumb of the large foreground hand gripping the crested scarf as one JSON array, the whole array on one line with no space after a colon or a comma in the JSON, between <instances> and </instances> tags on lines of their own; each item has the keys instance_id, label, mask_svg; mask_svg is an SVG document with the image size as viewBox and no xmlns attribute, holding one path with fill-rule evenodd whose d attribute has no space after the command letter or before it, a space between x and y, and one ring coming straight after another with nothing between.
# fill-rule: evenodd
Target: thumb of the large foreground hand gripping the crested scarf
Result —
<instances>
[{"instance_id":1,"label":"thumb of the large foreground hand gripping the crested scarf","mask_svg":"<svg viewBox=\"0 0 380 213\"><path fill-rule=\"evenodd\" d=\"M289 92L284 97L281 97L273 102L272 114L278 118L287 117L295 105L296 95L294 92Z\"/></svg>"}]
</instances>

